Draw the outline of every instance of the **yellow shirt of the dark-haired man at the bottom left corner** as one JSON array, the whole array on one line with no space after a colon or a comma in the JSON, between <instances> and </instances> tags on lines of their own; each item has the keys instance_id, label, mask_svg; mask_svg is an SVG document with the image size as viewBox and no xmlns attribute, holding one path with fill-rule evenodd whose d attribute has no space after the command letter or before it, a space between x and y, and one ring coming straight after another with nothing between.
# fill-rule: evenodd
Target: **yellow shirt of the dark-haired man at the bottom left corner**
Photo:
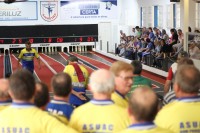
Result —
<instances>
[{"instance_id":1,"label":"yellow shirt of the dark-haired man at the bottom left corner","mask_svg":"<svg viewBox=\"0 0 200 133\"><path fill-rule=\"evenodd\" d=\"M0 112L1 133L77 133L31 104L13 103Z\"/></svg>"}]
</instances>

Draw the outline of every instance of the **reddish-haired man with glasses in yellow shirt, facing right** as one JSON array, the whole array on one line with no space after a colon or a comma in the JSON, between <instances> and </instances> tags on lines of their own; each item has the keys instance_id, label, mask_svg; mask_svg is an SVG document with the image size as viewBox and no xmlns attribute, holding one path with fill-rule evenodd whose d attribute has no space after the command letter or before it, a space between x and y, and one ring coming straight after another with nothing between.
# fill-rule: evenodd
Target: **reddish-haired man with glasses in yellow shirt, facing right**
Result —
<instances>
[{"instance_id":1,"label":"reddish-haired man with glasses in yellow shirt, facing right","mask_svg":"<svg viewBox=\"0 0 200 133\"><path fill-rule=\"evenodd\" d=\"M115 104L127 108L127 94L133 84L133 66L123 61L114 62L110 71L115 75L115 91L112 94L112 100Z\"/></svg>"}]
</instances>

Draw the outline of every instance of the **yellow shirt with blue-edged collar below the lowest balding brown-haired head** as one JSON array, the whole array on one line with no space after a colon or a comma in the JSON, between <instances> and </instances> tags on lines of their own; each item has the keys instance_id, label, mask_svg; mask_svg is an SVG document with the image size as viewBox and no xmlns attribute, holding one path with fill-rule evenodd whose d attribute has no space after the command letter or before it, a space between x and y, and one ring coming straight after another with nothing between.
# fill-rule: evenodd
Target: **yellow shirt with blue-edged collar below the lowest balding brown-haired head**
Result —
<instances>
[{"instance_id":1,"label":"yellow shirt with blue-edged collar below the lowest balding brown-haired head","mask_svg":"<svg viewBox=\"0 0 200 133\"><path fill-rule=\"evenodd\" d=\"M153 123L133 124L119 133L172 133L167 129L157 127Z\"/></svg>"}]
</instances>

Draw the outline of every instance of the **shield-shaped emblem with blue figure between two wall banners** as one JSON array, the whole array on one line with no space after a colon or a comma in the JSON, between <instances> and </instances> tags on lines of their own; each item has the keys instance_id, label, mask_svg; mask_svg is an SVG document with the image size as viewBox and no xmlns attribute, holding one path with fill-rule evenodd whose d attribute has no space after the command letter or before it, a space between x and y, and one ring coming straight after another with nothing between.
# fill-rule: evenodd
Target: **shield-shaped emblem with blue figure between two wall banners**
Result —
<instances>
[{"instance_id":1,"label":"shield-shaped emblem with blue figure between two wall banners","mask_svg":"<svg viewBox=\"0 0 200 133\"><path fill-rule=\"evenodd\" d=\"M58 2L41 1L40 15L45 21L54 21L58 17Z\"/></svg>"}]
</instances>

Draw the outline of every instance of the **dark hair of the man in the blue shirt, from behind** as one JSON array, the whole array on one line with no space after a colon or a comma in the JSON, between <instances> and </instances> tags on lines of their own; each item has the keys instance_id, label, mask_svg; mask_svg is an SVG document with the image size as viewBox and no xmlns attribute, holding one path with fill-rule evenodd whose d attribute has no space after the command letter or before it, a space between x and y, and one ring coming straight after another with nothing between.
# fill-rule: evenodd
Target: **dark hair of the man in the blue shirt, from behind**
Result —
<instances>
[{"instance_id":1,"label":"dark hair of the man in the blue shirt, from behind","mask_svg":"<svg viewBox=\"0 0 200 133\"><path fill-rule=\"evenodd\" d=\"M72 80L67 73L58 73L53 76L51 80L54 95L66 97L70 94L72 89Z\"/></svg>"}]
</instances>

